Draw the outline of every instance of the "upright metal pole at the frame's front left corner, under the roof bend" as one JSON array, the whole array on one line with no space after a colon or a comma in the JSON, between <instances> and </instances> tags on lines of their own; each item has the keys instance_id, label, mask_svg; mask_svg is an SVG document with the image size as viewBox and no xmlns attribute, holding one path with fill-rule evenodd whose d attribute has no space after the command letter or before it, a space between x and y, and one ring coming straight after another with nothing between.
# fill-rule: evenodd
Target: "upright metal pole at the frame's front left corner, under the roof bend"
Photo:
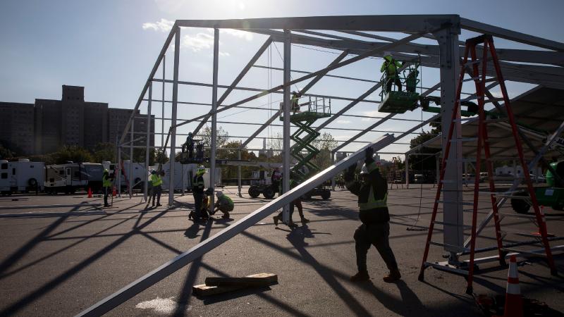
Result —
<instances>
[{"instance_id":1,"label":"upright metal pole at the frame's front left corner, under the roof bend","mask_svg":"<svg viewBox=\"0 0 564 317\"><path fill-rule=\"evenodd\" d=\"M172 85L171 153L168 163L168 205L174 204L174 164L176 163L176 106L178 106L178 66L180 64L180 27L174 35L174 72Z\"/></svg>"}]
</instances>

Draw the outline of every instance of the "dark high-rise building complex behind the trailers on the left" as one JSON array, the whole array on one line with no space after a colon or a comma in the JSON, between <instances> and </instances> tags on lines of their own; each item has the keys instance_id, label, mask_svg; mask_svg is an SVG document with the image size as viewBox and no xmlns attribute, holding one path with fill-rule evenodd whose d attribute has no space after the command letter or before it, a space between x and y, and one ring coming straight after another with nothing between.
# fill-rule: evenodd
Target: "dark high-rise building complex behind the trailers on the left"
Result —
<instances>
[{"instance_id":1,"label":"dark high-rise building complex behind the trailers on the left","mask_svg":"<svg viewBox=\"0 0 564 317\"><path fill-rule=\"evenodd\" d=\"M121 137L133 110L108 108L84 100L84 87L63 85L61 100L35 99L35 104L0 103L0 139L23 149L23 154L47 154L63 145L94 149ZM146 116L134 120L134 135L147 132ZM154 131L154 116L152 129ZM145 140L135 145L145 145ZM151 133L150 144L154 145Z\"/></svg>"}]
</instances>

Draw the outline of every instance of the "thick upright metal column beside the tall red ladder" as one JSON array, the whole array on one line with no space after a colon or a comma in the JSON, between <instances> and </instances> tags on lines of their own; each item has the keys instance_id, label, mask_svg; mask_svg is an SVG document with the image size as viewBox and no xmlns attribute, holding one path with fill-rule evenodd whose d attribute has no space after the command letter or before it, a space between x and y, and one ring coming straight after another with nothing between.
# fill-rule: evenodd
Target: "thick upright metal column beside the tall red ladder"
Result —
<instances>
[{"instance_id":1,"label":"thick upright metal column beside the tall red ladder","mask_svg":"<svg viewBox=\"0 0 564 317\"><path fill-rule=\"evenodd\" d=\"M443 155L446 145L450 142L448 129L451 124L455 125L453 139L460 139L460 107L456 114L455 122L450 122L456 99L456 85L460 75L460 63L458 54L458 33L453 27L446 27L434 33L439 42L439 62L441 66L441 128ZM455 142L450 144L448 162L443 180L443 221L456 225L446 225L443 231L445 244L455 247L445 247L450 253L449 262L458 263L456 253L458 247L464 244L464 214L462 210L462 144Z\"/></svg>"}]
</instances>

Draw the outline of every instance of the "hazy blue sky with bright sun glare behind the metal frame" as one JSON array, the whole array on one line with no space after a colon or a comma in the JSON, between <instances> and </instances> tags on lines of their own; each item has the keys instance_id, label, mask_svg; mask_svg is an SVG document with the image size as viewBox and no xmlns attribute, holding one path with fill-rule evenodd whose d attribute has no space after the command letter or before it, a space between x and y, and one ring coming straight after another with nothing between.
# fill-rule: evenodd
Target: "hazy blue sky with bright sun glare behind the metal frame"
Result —
<instances>
[{"instance_id":1,"label":"hazy blue sky with bright sun glare behind the metal frame","mask_svg":"<svg viewBox=\"0 0 564 317\"><path fill-rule=\"evenodd\" d=\"M492 6L489 6L492 5ZM525 32L564 42L564 1L9 1L0 2L0 101L32 103L35 98L60 99L61 85L85 87L87 101L107 102L116 108L133 108L147 80L171 23L176 19L267 18L309 15L379 15L379 14L443 14L455 13L464 18ZM399 38L405 35L391 35ZM468 37L463 33L461 39ZM266 37L247 32L225 31L220 34L219 83L229 85L233 78ZM432 42L428 42L432 44ZM499 41L498 47L521 47ZM180 45L180 80L212 82L212 30L186 29ZM282 44L260 58L258 64L280 67ZM336 58L335 51L313 51L293 46L292 68L314 71ZM166 77L172 75L172 50L167 52ZM367 59L336 70L333 74L379 80L379 60ZM157 72L161 77L161 69ZM293 77L299 77L293 73ZM422 70L423 86L434 85L436 70ZM241 85L268 88L281 83L281 72L253 68ZM298 89L305 84L298 85ZM310 92L356 98L373 84L324 79ZM166 99L170 98L168 85ZM528 89L529 85L509 85L511 97ZM155 99L160 99L161 84L154 85ZM221 92L220 92L221 94ZM238 92L226 104L250 96ZM211 89L181 87L180 100L209 104ZM276 109L280 94L259 99L251 106ZM369 99L379 100L377 94ZM348 104L332 101L333 112ZM143 105L145 109L145 104ZM168 105L167 108L170 106ZM377 104L362 103L350 114L383 116ZM160 116L160 107L158 108ZM142 110L145 111L145 110ZM180 118L192 118L209 111L205 106L181 106ZM226 111L223 121L264 123L271 111ZM167 111L168 113L169 111ZM401 118L420 120L428 113L414 111ZM365 128L374 120L343 118L333 128ZM279 123L275 121L275 123ZM405 130L414 123L391 121L379 130ZM219 123L233 136L248 136L258 126ZM188 131L188 126L185 130ZM157 125L160 130L160 125ZM274 135L272 128L262 136ZM333 130L336 139L348 139L357 132ZM374 139L370 133L362 139ZM156 137L157 140L160 137ZM157 144L159 141L157 141ZM353 144L347 149L355 149ZM262 140L250 144L262 147ZM390 147L389 151L405 151L406 145Z\"/></svg>"}]
</instances>

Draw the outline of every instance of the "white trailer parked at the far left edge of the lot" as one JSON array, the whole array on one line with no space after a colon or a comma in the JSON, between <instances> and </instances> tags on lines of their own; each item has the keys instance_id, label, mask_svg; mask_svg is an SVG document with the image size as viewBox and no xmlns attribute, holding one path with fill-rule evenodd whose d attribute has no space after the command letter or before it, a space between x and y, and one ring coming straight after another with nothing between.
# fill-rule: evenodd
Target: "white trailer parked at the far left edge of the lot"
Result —
<instances>
[{"instance_id":1,"label":"white trailer parked at the far left edge of the lot","mask_svg":"<svg viewBox=\"0 0 564 317\"><path fill-rule=\"evenodd\" d=\"M44 182L44 163L30 162L29 159L18 161L0 161L0 192L41 192Z\"/></svg>"}]
</instances>

